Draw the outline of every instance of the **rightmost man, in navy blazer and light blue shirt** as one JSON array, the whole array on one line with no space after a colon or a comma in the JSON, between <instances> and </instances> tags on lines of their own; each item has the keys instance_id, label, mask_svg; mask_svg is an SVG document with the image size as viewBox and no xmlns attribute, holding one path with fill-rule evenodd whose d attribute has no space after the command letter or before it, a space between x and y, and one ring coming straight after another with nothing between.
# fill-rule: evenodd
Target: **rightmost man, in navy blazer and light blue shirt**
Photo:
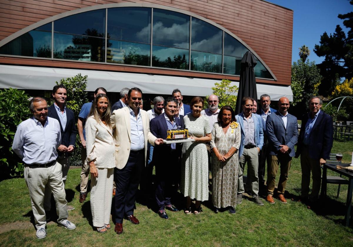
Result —
<instances>
[{"instance_id":1,"label":"rightmost man, in navy blazer and light blue shirt","mask_svg":"<svg viewBox=\"0 0 353 247\"><path fill-rule=\"evenodd\" d=\"M333 122L330 115L320 110L321 98L313 96L308 101L310 112L301 120L301 131L295 157L300 155L301 200L306 202L309 196L310 172L312 173L312 191L310 203L316 203L321 186L321 165L330 157L333 144Z\"/></svg>"}]
</instances>

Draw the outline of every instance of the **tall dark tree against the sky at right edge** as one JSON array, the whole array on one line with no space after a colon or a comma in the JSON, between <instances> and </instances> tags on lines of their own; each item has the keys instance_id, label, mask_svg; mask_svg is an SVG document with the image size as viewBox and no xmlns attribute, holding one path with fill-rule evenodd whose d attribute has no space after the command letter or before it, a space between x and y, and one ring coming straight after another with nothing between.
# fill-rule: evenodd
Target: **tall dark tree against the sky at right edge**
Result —
<instances>
[{"instance_id":1,"label":"tall dark tree against the sky at right edge","mask_svg":"<svg viewBox=\"0 0 353 247\"><path fill-rule=\"evenodd\" d=\"M353 5L353 1L350 1ZM319 94L328 96L337 85L337 77L353 77L353 12L339 14L338 18L344 20L343 25L348 28L347 36L340 25L336 26L335 32L321 35L320 45L315 45L314 52L318 56L325 56L325 60L318 64L323 76L319 87Z\"/></svg>"}]
</instances>

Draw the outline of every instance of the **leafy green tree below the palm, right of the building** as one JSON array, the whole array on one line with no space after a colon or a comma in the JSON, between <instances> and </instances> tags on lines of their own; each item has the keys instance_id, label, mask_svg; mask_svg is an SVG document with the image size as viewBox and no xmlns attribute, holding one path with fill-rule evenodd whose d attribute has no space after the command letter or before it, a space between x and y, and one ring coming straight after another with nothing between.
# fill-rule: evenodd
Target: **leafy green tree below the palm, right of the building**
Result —
<instances>
[{"instance_id":1,"label":"leafy green tree below the palm, right of the building","mask_svg":"<svg viewBox=\"0 0 353 247\"><path fill-rule=\"evenodd\" d=\"M320 85L321 78L320 71L315 62L310 62L309 60L304 62L302 59L293 62L291 84L293 91L292 105L299 104L305 109L307 107L307 100L312 95L318 94L318 85Z\"/></svg>"}]
</instances>

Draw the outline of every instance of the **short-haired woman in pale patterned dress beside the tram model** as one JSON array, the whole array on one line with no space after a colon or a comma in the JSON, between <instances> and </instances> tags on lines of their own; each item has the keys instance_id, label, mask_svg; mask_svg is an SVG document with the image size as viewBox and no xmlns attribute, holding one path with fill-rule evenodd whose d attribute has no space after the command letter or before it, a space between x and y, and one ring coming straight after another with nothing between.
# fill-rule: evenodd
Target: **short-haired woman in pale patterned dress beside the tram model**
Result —
<instances>
[{"instance_id":1,"label":"short-haired woman in pale patterned dress beside the tram model","mask_svg":"<svg viewBox=\"0 0 353 247\"><path fill-rule=\"evenodd\" d=\"M191 199L195 199L193 213L201 212L201 201L208 200L208 155L206 142L211 140L208 119L201 115L203 100L194 97L190 102L191 114L184 116L185 127L189 129L193 142L186 142L182 149L180 192L186 197L184 213L190 214Z\"/></svg>"}]
</instances>

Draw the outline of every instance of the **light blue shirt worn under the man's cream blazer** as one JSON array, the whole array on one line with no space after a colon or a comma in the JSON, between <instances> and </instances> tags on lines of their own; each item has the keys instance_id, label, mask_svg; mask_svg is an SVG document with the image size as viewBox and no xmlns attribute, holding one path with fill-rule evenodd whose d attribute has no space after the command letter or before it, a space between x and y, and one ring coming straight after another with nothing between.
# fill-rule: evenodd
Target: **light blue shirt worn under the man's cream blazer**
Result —
<instances>
[{"instance_id":1,"label":"light blue shirt worn under the man's cream blazer","mask_svg":"<svg viewBox=\"0 0 353 247\"><path fill-rule=\"evenodd\" d=\"M133 110L130 110L130 128L131 128L131 150L139 151L145 148L145 138L143 135L143 125L141 111L138 109L137 119Z\"/></svg>"}]
</instances>

